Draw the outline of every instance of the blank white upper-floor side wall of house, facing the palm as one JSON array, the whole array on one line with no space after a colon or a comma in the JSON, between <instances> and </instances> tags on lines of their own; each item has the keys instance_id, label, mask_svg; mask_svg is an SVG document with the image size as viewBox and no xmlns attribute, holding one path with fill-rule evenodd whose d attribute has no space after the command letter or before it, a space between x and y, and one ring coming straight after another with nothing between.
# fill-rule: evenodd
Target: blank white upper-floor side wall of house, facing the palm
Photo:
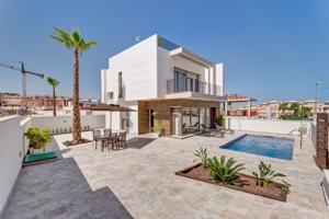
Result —
<instances>
[{"instance_id":1,"label":"blank white upper-floor side wall of house, facing the palm","mask_svg":"<svg viewBox=\"0 0 329 219\"><path fill-rule=\"evenodd\" d=\"M114 103L118 102L118 72L124 101L157 97L157 42L158 36L154 35L110 58L106 89L114 92Z\"/></svg>"}]
</instances>

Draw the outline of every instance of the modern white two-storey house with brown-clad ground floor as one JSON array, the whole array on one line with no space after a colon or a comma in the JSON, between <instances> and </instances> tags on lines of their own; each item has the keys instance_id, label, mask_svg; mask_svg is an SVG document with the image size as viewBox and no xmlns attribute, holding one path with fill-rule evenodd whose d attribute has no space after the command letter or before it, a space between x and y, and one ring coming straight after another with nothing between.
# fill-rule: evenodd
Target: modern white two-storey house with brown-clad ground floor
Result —
<instances>
[{"instance_id":1,"label":"modern white two-storey house with brown-clad ground floor","mask_svg":"<svg viewBox=\"0 0 329 219\"><path fill-rule=\"evenodd\" d=\"M136 113L107 114L107 127L182 136L212 127L224 96L223 64L211 61L159 35L109 59L101 72L102 102ZM160 123L160 124L159 124Z\"/></svg>"}]
</instances>

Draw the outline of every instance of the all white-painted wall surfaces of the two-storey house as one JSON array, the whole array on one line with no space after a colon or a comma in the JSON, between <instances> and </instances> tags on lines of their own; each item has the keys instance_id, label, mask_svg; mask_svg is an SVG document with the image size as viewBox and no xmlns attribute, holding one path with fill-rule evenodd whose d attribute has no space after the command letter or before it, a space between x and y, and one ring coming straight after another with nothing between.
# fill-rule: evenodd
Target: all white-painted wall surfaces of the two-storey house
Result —
<instances>
[{"instance_id":1,"label":"all white-painted wall surfaces of the two-storey house","mask_svg":"<svg viewBox=\"0 0 329 219\"><path fill-rule=\"evenodd\" d=\"M158 46L158 35L152 35L109 59L109 69L101 72L102 102L138 111L137 101L164 99L167 81L173 79L174 67L197 73L201 81L223 88L223 68L217 74L215 66L208 68L179 55L170 56L169 50ZM123 77L122 100L118 100L118 72ZM205 90L205 93L214 94L211 87L206 85ZM113 92L112 101L106 100L107 92ZM112 113L112 120L110 117L107 113L106 127L121 129L121 113ZM129 119L129 131L138 132L137 113L131 113Z\"/></svg>"}]
</instances>

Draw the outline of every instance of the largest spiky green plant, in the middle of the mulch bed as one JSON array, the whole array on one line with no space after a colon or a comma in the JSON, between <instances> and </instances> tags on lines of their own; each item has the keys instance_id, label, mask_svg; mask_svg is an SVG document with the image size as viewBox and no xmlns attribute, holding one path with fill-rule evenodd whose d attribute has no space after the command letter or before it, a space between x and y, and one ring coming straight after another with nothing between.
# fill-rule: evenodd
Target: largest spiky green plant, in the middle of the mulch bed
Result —
<instances>
[{"instance_id":1,"label":"largest spiky green plant, in the middle of the mulch bed","mask_svg":"<svg viewBox=\"0 0 329 219\"><path fill-rule=\"evenodd\" d=\"M234 158L226 161L225 155L222 155L220 160L214 157L207 160L207 168L209 169L214 181L240 186L242 182L238 176L238 172L245 170L245 164L236 163L237 161Z\"/></svg>"}]
</instances>

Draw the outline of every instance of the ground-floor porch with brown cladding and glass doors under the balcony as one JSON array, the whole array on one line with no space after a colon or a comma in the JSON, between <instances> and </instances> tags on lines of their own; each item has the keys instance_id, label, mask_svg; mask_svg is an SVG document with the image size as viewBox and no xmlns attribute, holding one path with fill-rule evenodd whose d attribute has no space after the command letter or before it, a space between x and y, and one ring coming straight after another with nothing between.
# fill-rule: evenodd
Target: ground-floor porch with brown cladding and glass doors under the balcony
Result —
<instances>
[{"instance_id":1,"label":"ground-floor porch with brown cladding and glass doors under the balcony","mask_svg":"<svg viewBox=\"0 0 329 219\"><path fill-rule=\"evenodd\" d=\"M138 134L154 132L157 123L161 124L164 136L201 132L214 126L224 103L186 99L139 101Z\"/></svg>"}]
</instances>

